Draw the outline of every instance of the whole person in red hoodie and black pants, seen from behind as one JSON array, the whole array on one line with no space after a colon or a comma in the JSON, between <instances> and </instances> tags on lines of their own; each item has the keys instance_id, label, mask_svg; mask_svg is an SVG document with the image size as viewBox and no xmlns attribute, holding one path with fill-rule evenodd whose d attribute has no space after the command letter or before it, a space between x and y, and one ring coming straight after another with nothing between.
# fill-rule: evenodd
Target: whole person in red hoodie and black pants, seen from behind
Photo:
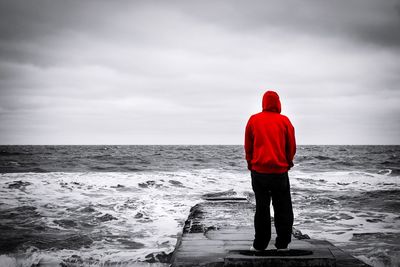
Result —
<instances>
[{"instance_id":1,"label":"whole person in red hoodie and black pants, seen from behind","mask_svg":"<svg viewBox=\"0 0 400 267\"><path fill-rule=\"evenodd\" d=\"M267 91L262 112L250 117L245 133L245 152L256 198L255 238L252 250L264 250L271 239L270 201L274 208L275 247L287 250L291 241L293 209L288 171L296 153L294 128L281 115L279 96Z\"/></svg>"}]
</instances>

